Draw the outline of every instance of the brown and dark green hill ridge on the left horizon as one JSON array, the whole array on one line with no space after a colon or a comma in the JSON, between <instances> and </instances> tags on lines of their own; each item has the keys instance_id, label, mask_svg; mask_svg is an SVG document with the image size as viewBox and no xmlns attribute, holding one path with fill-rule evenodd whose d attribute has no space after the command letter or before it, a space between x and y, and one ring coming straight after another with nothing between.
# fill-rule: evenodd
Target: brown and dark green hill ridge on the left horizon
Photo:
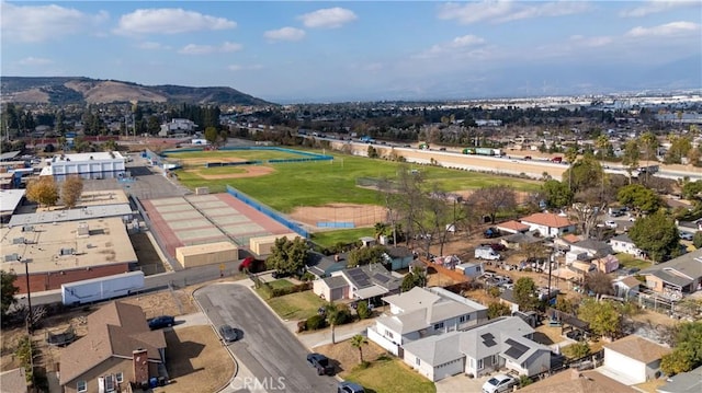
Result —
<instances>
[{"instance_id":1,"label":"brown and dark green hill ridge on the left horizon","mask_svg":"<svg viewBox=\"0 0 702 393\"><path fill-rule=\"evenodd\" d=\"M231 88L147 86L83 77L0 77L0 92L2 102L55 105L134 101L252 106L272 104Z\"/></svg>"}]
</instances>

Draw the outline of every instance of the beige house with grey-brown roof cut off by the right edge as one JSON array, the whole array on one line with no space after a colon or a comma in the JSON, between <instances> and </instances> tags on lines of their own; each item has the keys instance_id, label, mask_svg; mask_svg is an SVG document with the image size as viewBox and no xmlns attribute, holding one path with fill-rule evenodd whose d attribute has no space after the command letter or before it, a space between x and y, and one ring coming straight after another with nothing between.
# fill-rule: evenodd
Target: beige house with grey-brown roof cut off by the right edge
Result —
<instances>
[{"instance_id":1,"label":"beige house with grey-brown roof cut off by the right edge","mask_svg":"<svg viewBox=\"0 0 702 393\"><path fill-rule=\"evenodd\" d=\"M659 294L680 299L702 289L702 248L643 269L646 287Z\"/></svg>"}]
</instances>

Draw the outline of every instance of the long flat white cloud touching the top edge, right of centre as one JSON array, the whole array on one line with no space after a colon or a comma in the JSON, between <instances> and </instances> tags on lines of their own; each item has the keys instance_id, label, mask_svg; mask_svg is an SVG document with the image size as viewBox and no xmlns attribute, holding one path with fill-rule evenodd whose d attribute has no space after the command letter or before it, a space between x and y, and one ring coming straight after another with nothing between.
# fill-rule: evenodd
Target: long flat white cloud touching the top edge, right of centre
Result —
<instances>
[{"instance_id":1,"label":"long flat white cloud touching the top edge, right of centre","mask_svg":"<svg viewBox=\"0 0 702 393\"><path fill-rule=\"evenodd\" d=\"M581 1L529 2L483 1L448 3L439 8L438 18L457 20L463 24L477 22L509 22L530 18L562 16L582 13L589 4Z\"/></svg>"}]
</instances>

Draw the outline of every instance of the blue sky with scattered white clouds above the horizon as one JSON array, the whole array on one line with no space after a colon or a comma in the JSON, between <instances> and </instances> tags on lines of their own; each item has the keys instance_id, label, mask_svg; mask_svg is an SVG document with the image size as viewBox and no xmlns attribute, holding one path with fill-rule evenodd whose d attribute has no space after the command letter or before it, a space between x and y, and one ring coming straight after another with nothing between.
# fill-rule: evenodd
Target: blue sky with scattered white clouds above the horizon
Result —
<instances>
[{"instance_id":1,"label":"blue sky with scattered white clouds above the horizon","mask_svg":"<svg viewBox=\"0 0 702 393\"><path fill-rule=\"evenodd\" d=\"M273 102L702 89L702 1L1 1L1 74Z\"/></svg>"}]
</instances>

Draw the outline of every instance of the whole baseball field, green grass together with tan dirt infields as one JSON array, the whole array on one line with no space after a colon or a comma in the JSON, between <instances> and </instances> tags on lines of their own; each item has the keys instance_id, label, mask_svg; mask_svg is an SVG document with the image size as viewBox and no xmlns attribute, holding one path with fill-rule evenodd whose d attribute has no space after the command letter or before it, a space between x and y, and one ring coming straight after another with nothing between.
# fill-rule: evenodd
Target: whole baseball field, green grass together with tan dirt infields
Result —
<instances>
[{"instance_id":1,"label":"whole baseball field, green grass together with tan dirt infields","mask_svg":"<svg viewBox=\"0 0 702 393\"><path fill-rule=\"evenodd\" d=\"M321 154L321 151L302 150ZM451 170L431 165L398 163L363 157L333 154L332 161L267 163L271 159L288 159L294 153L276 150L233 150L169 153L182 163L176 171L179 181L192 188L210 187L211 193L226 192L230 185L269 207L303 222L320 219L373 224L384 219L377 190L358 185L360 178L398 178L399 171L420 172L427 184L454 193L508 184L517 190L530 192L540 182ZM262 161L257 165L205 167L205 162ZM331 217L330 217L331 216ZM369 221L369 222L365 222Z\"/></svg>"}]
</instances>

